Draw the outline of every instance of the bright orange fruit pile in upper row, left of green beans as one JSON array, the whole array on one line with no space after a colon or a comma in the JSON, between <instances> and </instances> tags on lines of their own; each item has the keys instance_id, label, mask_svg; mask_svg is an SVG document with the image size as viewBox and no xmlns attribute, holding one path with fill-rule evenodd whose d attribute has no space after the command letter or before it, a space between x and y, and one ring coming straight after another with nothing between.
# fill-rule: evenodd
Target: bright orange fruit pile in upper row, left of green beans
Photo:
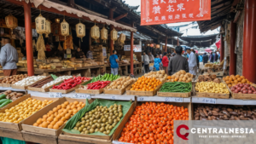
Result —
<instances>
[{"instance_id":1,"label":"bright orange fruit pile in upper row, left of green beans","mask_svg":"<svg viewBox=\"0 0 256 144\"><path fill-rule=\"evenodd\" d=\"M144 76L137 79L135 84L131 85L130 90L135 91L154 91L158 85L162 84L159 79L145 78Z\"/></svg>"}]
</instances>

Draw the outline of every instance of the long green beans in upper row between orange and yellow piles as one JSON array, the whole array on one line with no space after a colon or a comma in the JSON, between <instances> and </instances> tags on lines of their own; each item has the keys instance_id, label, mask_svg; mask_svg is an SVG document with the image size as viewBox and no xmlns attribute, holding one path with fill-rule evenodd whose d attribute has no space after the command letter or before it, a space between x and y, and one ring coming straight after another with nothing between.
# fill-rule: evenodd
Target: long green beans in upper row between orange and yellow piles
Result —
<instances>
[{"instance_id":1,"label":"long green beans in upper row between orange and yellow piles","mask_svg":"<svg viewBox=\"0 0 256 144\"><path fill-rule=\"evenodd\" d=\"M166 82L160 88L160 92L188 93L192 89L191 83Z\"/></svg>"}]
</instances>

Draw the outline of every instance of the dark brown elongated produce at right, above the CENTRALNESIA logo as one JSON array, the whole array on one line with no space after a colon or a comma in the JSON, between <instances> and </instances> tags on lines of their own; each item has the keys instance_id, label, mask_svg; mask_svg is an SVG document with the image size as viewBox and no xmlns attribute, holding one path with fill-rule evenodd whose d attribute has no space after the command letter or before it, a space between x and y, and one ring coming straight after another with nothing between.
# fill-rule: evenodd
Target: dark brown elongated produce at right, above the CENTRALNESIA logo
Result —
<instances>
[{"instance_id":1,"label":"dark brown elongated produce at right, above the CENTRALNESIA logo","mask_svg":"<svg viewBox=\"0 0 256 144\"><path fill-rule=\"evenodd\" d=\"M195 120L256 120L255 107L232 105L196 105Z\"/></svg>"}]
</instances>

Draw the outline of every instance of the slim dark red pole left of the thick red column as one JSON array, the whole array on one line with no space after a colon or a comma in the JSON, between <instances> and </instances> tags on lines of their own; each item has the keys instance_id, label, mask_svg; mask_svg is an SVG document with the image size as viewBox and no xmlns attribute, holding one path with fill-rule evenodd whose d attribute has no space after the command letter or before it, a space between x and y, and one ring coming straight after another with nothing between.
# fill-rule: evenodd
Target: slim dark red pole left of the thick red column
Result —
<instances>
[{"instance_id":1,"label":"slim dark red pole left of the thick red column","mask_svg":"<svg viewBox=\"0 0 256 144\"><path fill-rule=\"evenodd\" d=\"M236 75L236 23L230 22L230 75Z\"/></svg>"}]
</instances>

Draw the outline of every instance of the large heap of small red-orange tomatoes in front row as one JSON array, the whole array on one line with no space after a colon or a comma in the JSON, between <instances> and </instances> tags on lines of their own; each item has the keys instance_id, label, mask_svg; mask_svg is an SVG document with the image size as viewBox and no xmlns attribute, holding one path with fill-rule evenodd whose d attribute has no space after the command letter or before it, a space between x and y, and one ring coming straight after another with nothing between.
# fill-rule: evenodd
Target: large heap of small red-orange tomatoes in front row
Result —
<instances>
[{"instance_id":1,"label":"large heap of small red-orange tomatoes in front row","mask_svg":"<svg viewBox=\"0 0 256 144\"><path fill-rule=\"evenodd\" d=\"M188 108L165 103L143 103L135 108L119 141L172 144L174 120L189 120Z\"/></svg>"}]
</instances>

